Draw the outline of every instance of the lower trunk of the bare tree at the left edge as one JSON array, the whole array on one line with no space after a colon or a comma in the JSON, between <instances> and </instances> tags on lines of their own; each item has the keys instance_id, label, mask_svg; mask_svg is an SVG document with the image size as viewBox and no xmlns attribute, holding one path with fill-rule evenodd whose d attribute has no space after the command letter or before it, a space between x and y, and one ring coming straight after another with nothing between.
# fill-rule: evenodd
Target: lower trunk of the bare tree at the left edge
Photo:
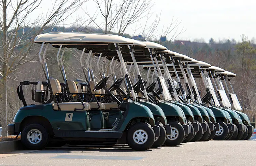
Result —
<instances>
[{"instance_id":1,"label":"lower trunk of the bare tree at the left edge","mask_svg":"<svg viewBox=\"0 0 256 166\"><path fill-rule=\"evenodd\" d=\"M2 136L7 136L7 79L2 78L0 81L0 124L2 125Z\"/></svg>"}]
</instances>

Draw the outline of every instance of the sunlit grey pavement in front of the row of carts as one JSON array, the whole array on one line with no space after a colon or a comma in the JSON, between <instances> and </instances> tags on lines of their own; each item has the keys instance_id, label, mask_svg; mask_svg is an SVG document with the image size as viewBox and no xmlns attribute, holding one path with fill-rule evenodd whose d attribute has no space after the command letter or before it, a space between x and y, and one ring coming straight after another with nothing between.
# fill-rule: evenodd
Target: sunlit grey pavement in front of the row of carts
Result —
<instances>
[{"instance_id":1,"label":"sunlit grey pavement in front of the row of carts","mask_svg":"<svg viewBox=\"0 0 256 166\"><path fill-rule=\"evenodd\" d=\"M90 145L0 154L0 166L248 166L255 160L255 141L205 141L143 152Z\"/></svg>"}]
</instances>

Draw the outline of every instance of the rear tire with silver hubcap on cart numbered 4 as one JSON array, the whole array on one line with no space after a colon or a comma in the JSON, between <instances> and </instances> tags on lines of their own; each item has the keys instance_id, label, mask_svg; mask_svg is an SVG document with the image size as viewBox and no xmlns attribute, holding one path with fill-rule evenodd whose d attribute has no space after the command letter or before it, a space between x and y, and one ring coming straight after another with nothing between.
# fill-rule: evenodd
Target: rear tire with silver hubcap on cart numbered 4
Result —
<instances>
[{"instance_id":1,"label":"rear tire with silver hubcap on cart numbered 4","mask_svg":"<svg viewBox=\"0 0 256 166\"><path fill-rule=\"evenodd\" d=\"M42 125L29 124L22 130L21 142L29 150L40 150L48 144L49 134Z\"/></svg>"}]
</instances>

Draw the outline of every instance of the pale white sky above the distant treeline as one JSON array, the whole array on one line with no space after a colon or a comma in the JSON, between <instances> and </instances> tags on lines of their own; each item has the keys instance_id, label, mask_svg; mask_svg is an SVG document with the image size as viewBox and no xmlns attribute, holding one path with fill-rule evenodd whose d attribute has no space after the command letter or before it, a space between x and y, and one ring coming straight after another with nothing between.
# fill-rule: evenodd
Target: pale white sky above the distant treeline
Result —
<instances>
[{"instance_id":1,"label":"pale white sky above the distant treeline","mask_svg":"<svg viewBox=\"0 0 256 166\"><path fill-rule=\"evenodd\" d=\"M43 0L43 2L51 0ZM118 0L117 0L118 1ZM181 21L179 30L184 27L185 32L176 39L179 40L204 40L208 42L210 38L215 41L224 39L235 39L241 41L242 34L248 39L256 37L256 13L254 0L152 0L154 6L152 13L160 14L158 34L161 33L162 26L171 23L171 18ZM97 7L93 0L89 0L82 6L88 13L94 14ZM38 11L46 12L48 3L43 3L43 7ZM35 15L37 16L37 15ZM65 23L71 23L74 18L84 16L83 10L78 10L72 14ZM154 17L153 17L154 19ZM97 21L101 22L102 17L98 16ZM141 20L143 23L145 20ZM153 20L152 20L153 21ZM126 33L134 34L134 28L138 22L128 27ZM178 30L178 31L179 31ZM138 35L138 34L136 34ZM167 36L170 38L172 33Z\"/></svg>"}]
</instances>

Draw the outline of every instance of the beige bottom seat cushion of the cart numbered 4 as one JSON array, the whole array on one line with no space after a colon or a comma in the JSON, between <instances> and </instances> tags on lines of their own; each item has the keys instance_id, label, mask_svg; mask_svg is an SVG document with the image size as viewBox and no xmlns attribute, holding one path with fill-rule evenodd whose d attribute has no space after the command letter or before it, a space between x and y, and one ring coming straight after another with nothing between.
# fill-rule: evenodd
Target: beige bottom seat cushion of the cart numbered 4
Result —
<instances>
[{"instance_id":1,"label":"beige bottom seat cushion of the cart numbered 4","mask_svg":"<svg viewBox=\"0 0 256 166\"><path fill-rule=\"evenodd\" d=\"M82 109L83 105L81 102L72 102L72 103L58 103L61 111L74 111L74 109ZM83 110L77 110L77 111L86 111L90 110L90 105L88 103L84 103L84 109ZM57 103L53 104L53 109L58 110Z\"/></svg>"}]
</instances>

